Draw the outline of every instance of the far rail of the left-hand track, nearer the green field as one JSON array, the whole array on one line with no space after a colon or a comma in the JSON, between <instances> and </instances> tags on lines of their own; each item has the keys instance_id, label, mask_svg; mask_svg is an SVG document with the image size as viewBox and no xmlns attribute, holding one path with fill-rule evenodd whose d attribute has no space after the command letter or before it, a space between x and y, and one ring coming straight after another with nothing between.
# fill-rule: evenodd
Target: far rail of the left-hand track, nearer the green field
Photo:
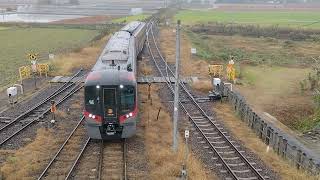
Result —
<instances>
[{"instance_id":1,"label":"far rail of the left-hand track, nearer the green field","mask_svg":"<svg viewBox=\"0 0 320 180\"><path fill-rule=\"evenodd\" d=\"M13 121L11 121L10 123L8 123L7 125L3 126L0 128L0 132L3 131L4 129L6 129L7 127L13 125L15 122L19 121L21 118L27 116L28 114L30 114L32 111L34 111L35 109L39 108L40 106L42 106L43 104L45 104L46 102L48 102L49 100L51 100L52 98L56 97L57 95L61 94L62 92L64 92L66 89L68 89L70 86L74 85L75 83L71 83L69 84L72 79L74 79L76 76L78 76L80 74L80 72L82 72L82 69L80 69L76 74L74 74L70 80L66 83L64 83L61 87L59 87L59 89L57 89L55 92L53 92L49 97L47 97L46 99L42 100L40 103L36 104L35 106L33 106L32 108L30 108L29 110L27 110L26 112L22 113L21 115L19 115L18 117L16 117ZM68 85L69 84L69 85ZM68 85L68 86L66 86Z\"/></svg>"}]
</instances>

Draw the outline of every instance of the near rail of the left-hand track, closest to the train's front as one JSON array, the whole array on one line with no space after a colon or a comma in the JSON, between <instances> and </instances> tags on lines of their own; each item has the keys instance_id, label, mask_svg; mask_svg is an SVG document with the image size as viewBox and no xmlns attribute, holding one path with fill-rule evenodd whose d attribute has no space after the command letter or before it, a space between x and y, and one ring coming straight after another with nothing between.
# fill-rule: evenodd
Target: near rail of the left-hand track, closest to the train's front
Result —
<instances>
[{"instance_id":1,"label":"near rail of the left-hand track, closest to the train's front","mask_svg":"<svg viewBox=\"0 0 320 180\"><path fill-rule=\"evenodd\" d=\"M57 102L57 106L59 106L62 102L64 102L66 99L68 99L70 96L72 96L74 93L78 92L80 89L83 88L83 85L80 86L75 86L71 92L69 92L67 95L65 95L60 101ZM6 138L4 141L2 141L0 143L0 147L3 146L6 142L8 142L10 139L12 139L13 137L15 137L17 134L19 134L20 132L22 132L24 129L26 129L27 127L29 127L30 125L32 125L33 123L35 123L36 121L38 121L41 117L43 117L46 113L48 113L50 111L50 108L48 108L47 110L45 110L42 114L40 114L37 118L35 118L34 120L30 121L28 124L26 124L25 126L23 126L22 128L20 128L19 130L17 130L16 132L14 132L11 136L9 136L8 138Z\"/></svg>"}]
</instances>

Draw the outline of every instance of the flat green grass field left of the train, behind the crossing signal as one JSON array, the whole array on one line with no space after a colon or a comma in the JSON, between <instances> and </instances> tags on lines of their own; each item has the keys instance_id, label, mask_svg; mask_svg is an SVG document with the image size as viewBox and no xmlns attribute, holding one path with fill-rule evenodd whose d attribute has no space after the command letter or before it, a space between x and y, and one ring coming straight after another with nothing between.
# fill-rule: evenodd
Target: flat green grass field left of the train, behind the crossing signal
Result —
<instances>
[{"instance_id":1,"label":"flat green grass field left of the train, behind the crossing signal","mask_svg":"<svg viewBox=\"0 0 320 180\"><path fill-rule=\"evenodd\" d=\"M0 31L0 87L17 80L18 68L30 64L28 53L47 58L87 45L99 35L96 30L58 28L10 28Z\"/></svg>"}]
</instances>

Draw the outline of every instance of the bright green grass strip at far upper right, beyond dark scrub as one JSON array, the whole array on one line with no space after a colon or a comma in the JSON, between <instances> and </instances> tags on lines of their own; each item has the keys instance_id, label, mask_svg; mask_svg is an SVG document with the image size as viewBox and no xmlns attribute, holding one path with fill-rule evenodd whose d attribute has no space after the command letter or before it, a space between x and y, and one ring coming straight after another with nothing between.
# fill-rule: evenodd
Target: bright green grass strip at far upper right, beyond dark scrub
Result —
<instances>
[{"instance_id":1,"label":"bright green grass strip at far upper right, beyond dark scrub","mask_svg":"<svg viewBox=\"0 0 320 180\"><path fill-rule=\"evenodd\" d=\"M175 19L183 24L196 23L239 23L262 26L278 25L294 28L320 28L320 12L317 11L201 11L183 10Z\"/></svg>"}]
</instances>

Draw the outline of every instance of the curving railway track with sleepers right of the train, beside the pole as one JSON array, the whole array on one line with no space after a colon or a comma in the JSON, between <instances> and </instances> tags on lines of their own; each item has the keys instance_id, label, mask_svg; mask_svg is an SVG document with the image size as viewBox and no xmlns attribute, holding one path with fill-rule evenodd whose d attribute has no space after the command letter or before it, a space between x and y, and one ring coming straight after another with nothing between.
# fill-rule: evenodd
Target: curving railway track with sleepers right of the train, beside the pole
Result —
<instances>
[{"instance_id":1,"label":"curving railway track with sleepers right of the train, beside the pole","mask_svg":"<svg viewBox=\"0 0 320 180\"><path fill-rule=\"evenodd\" d=\"M160 49L157 45L157 40L154 36L153 24L149 27L147 36L147 47L149 49L152 60L158 70L158 73L162 77L172 76L175 74L168 66ZM174 87L170 82L166 82L169 91L173 97ZM189 99L187 102L179 102L181 109L185 112L189 120L193 123L197 129L195 134L199 134L204 139L203 146L210 154L212 159L218 160L219 164L216 164L222 177L224 179L268 179L269 177L263 173L262 169L255 168L254 162L250 162L248 157L243 155L243 152L238 150L238 146L234 144L234 141L229 140L230 136L225 132L224 128L220 124L209 117L205 110L197 103L193 95L188 88L181 82L180 86L180 99Z\"/></svg>"}]
</instances>

